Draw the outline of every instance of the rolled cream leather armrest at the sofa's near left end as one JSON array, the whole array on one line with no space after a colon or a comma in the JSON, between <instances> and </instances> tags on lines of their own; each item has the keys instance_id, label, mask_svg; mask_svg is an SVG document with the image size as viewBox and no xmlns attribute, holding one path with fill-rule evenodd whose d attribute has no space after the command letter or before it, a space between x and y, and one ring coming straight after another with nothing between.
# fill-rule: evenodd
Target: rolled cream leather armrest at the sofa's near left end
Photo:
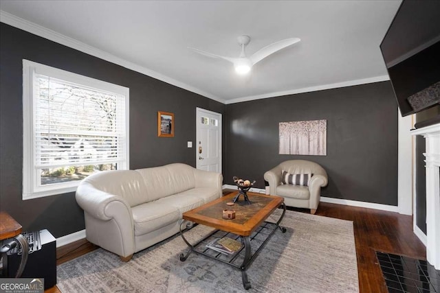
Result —
<instances>
[{"instance_id":1,"label":"rolled cream leather armrest at the sofa's near left end","mask_svg":"<svg viewBox=\"0 0 440 293\"><path fill-rule=\"evenodd\" d=\"M114 202L119 202L120 209L131 215L131 207L124 198L96 189L89 183L81 183L78 186L75 198L84 211L98 220L108 221L115 218L113 209L109 209L112 202L113 205Z\"/></svg>"}]
</instances>

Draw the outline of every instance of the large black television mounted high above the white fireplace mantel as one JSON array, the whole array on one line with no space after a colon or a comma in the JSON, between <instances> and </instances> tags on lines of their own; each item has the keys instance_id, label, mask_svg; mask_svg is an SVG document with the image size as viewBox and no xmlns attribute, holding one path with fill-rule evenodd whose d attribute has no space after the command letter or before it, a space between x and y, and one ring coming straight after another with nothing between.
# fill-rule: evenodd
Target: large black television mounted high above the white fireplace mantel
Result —
<instances>
[{"instance_id":1,"label":"large black television mounted high above the white fireplace mantel","mask_svg":"<svg viewBox=\"0 0 440 293\"><path fill-rule=\"evenodd\" d=\"M402 1L380 50L402 116L440 104L440 1Z\"/></svg>"}]
</instances>

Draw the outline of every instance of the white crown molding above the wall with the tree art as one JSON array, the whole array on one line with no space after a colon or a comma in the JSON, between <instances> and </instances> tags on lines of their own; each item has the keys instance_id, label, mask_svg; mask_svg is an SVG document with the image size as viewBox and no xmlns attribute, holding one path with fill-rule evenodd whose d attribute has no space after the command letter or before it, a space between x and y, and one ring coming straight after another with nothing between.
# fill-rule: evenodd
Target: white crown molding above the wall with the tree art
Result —
<instances>
[{"instance_id":1,"label":"white crown molding above the wall with the tree art","mask_svg":"<svg viewBox=\"0 0 440 293\"><path fill-rule=\"evenodd\" d=\"M338 82L336 84L323 84L320 86L310 86L303 89L294 89L290 91L278 91L275 93L265 93L263 95L251 95L248 97L238 97L236 99L228 99L225 104L234 104L239 102L252 101L254 99L267 99L268 97L280 97L282 95L294 95L297 93L310 93L312 91L322 91L326 89L337 89L345 86L357 86L360 84L371 84L373 82L383 82L385 80L390 80L388 75L380 75L374 78L362 78L360 80L349 80L347 82Z\"/></svg>"}]
</instances>

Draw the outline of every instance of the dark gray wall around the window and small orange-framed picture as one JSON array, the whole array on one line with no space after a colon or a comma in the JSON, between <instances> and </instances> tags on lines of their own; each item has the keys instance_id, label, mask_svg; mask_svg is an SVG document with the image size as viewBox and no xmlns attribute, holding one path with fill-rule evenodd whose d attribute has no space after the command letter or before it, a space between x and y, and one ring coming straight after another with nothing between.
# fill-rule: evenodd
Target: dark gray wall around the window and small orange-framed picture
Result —
<instances>
[{"instance_id":1,"label":"dark gray wall around the window and small orange-framed picture","mask_svg":"<svg viewBox=\"0 0 440 293\"><path fill-rule=\"evenodd\" d=\"M175 162L195 166L195 149L186 148L186 141L195 141L195 108L225 113L225 105L212 99L4 23L0 25L0 209L10 213L25 231L47 228L55 237L61 237L82 230L84 219L74 193L21 199L23 59L130 89L131 169ZM175 137L157 137L158 110L175 114Z\"/></svg>"}]
</instances>

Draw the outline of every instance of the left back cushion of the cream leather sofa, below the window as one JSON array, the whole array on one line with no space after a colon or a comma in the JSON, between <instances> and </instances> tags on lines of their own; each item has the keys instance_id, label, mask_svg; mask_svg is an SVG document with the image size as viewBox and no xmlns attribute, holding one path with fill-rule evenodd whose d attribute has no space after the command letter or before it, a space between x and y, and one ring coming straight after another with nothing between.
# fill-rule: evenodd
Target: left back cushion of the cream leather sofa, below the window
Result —
<instances>
[{"instance_id":1,"label":"left back cushion of the cream leather sofa, below the window","mask_svg":"<svg viewBox=\"0 0 440 293\"><path fill-rule=\"evenodd\" d=\"M134 170L112 170L92 174L84 179L96 189L121 196L130 207L146 202L144 179Z\"/></svg>"}]
</instances>

